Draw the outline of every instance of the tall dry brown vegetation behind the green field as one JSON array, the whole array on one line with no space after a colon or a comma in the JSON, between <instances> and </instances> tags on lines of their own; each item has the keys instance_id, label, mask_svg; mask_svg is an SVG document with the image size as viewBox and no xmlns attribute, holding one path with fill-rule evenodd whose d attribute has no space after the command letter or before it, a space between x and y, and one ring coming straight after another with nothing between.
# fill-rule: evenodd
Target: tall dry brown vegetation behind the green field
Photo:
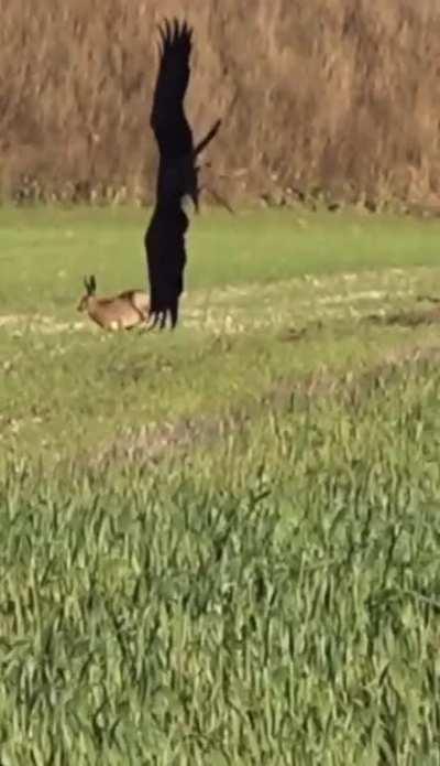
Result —
<instances>
[{"instance_id":1,"label":"tall dry brown vegetation behind the green field","mask_svg":"<svg viewBox=\"0 0 440 766\"><path fill-rule=\"evenodd\" d=\"M220 191L436 201L437 0L0 0L3 198L148 198L169 13L196 28L196 132L226 116Z\"/></svg>"}]
</instances>

